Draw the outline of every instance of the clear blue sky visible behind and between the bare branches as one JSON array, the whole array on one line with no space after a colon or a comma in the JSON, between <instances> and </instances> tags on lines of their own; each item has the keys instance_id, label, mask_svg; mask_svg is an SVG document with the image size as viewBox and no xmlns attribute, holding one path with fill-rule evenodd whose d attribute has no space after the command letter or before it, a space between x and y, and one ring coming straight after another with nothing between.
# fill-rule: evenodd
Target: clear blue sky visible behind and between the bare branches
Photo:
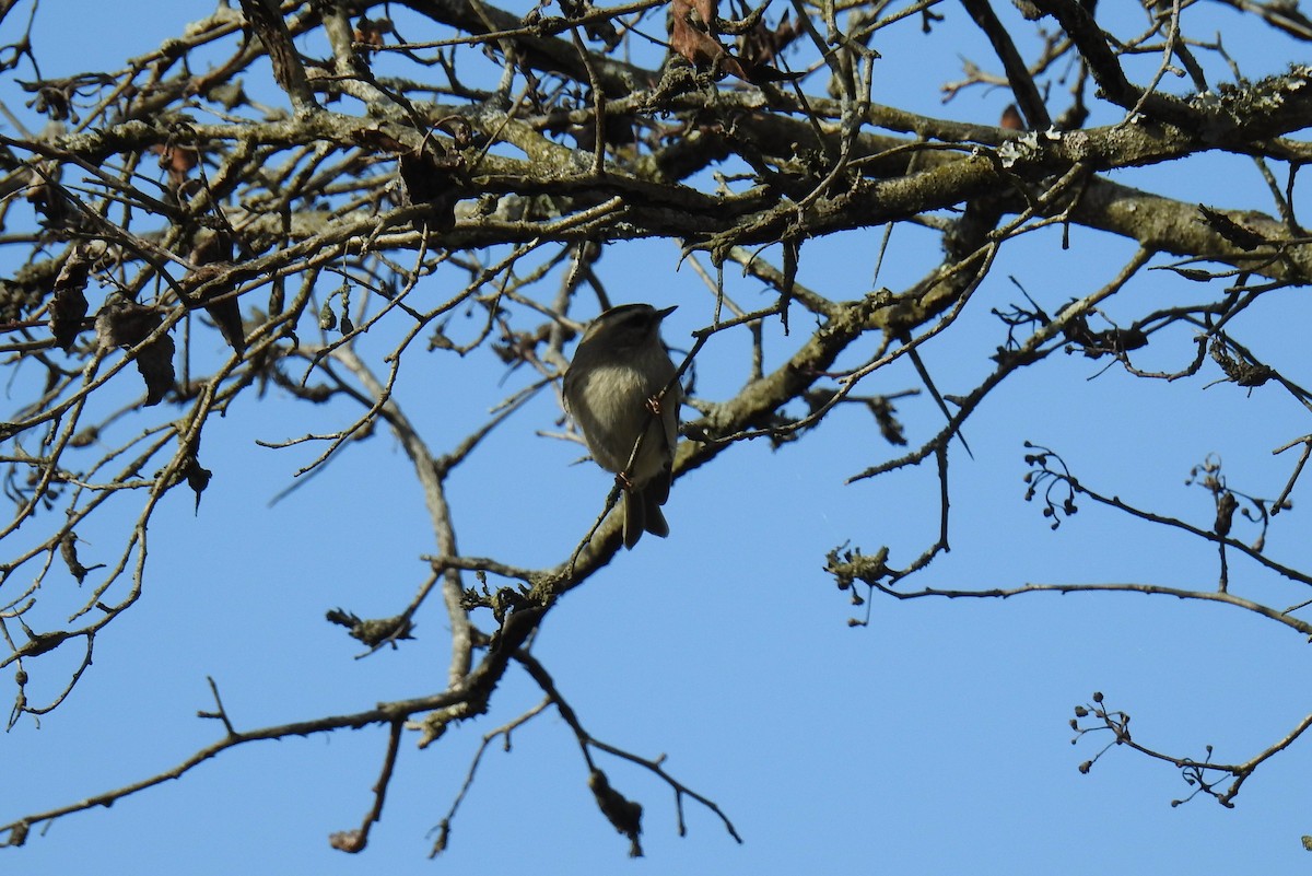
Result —
<instances>
[{"instance_id":1,"label":"clear blue sky visible behind and between the bare branches","mask_svg":"<svg viewBox=\"0 0 1312 876\"><path fill-rule=\"evenodd\" d=\"M98 68L147 51L210 8L140 3L129 21L110 4L47 0L34 45L47 76ZM13 33L21 12L9 14L0 34ZM918 30L907 28L904 41L876 43L884 54L876 92L888 104L992 123L1009 102L1004 92L975 89L946 108L938 102L937 84L955 77L958 54L989 58L960 9L947 13L942 33L953 38L921 42ZM1207 13L1218 28L1233 22L1227 10ZM1300 56L1275 39L1232 45L1227 37L1227 49L1252 75ZM913 52L924 52L935 72L907 83L900 64ZM0 92L21 110L12 83L0 83ZM1206 156L1118 178L1189 201L1269 209L1244 159ZM1299 206L1305 211L1305 199ZM924 348L945 392L968 389L991 367L985 357L1002 329L988 309L1017 299L1009 274L1052 311L1106 282L1128 254L1092 232L1076 229L1072 240L1069 250L1055 232L1018 243L959 330ZM917 278L935 247L899 228L878 283L897 289ZM677 303L666 340L686 346L714 300L690 269L676 270L677 262L673 244L642 244L607 253L601 270L617 298ZM840 241L803 250L803 279L834 298L869 290L872 265L872 249L854 252ZM741 304L762 303L758 286L726 275ZM1246 315L1240 337L1307 384L1305 344L1288 330L1312 316L1302 291ZM428 300L446 294L434 289ZM1190 300L1199 290L1158 271L1134 294ZM778 357L802 337L770 330L768 345ZM384 340L370 338L362 353L386 349ZM1189 337L1173 338L1162 361L1179 362L1191 349ZM516 372L501 384L505 375L488 353L454 361L416 346L413 354L399 400L437 450L530 379ZM1215 370L1168 386L1115 368L1092 379L1102 363L1057 358L1010 382L967 424L975 458L953 448L953 552L908 586L1212 586L1211 547L1096 508L1048 531L1039 509L1022 501L1022 442L1060 451L1105 492L1207 526L1211 498L1185 487L1189 468L1216 452L1233 487L1274 496L1292 460L1270 450L1308 431L1305 412L1275 391L1204 388L1219 376ZM737 338L716 340L698 361L699 388L711 397L732 393L745 367ZM136 391L127 386L134 379L123 374L125 397ZM909 368L890 368L867 391L913 386ZM924 396L899 410L913 442L939 428ZM189 493L165 500L150 528L144 597L97 639L96 662L70 700L39 728L22 720L4 737L0 820L165 770L219 738L220 727L195 716L213 708L207 675L240 728L359 711L442 686L447 641L440 612L420 615L417 641L369 660L354 660L357 643L323 620L336 606L363 616L394 614L424 578L419 556L433 551L432 534L395 441L379 431L352 445L323 475L266 508L315 451L273 451L255 439L340 428L354 416L247 400L211 422L202 462L214 481L195 515ZM537 434L555 430L558 417L550 396L530 403L451 481L466 553L548 564L586 530L609 479L596 467L571 466L577 446ZM1072 746L1067 723L1077 703L1101 690L1134 716L1136 740L1197 757L1211 744L1218 759L1241 761L1307 713L1307 643L1235 610L1127 595L880 599L869 627L849 628L853 610L823 572L825 553L848 540L867 552L888 544L891 561L905 564L937 527L930 469L844 485L896 452L866 418L848 412L777 452L762 442L737 447L676 484L669 539L644 539L568 594L535 643L589 732L644 757L666 755L672 775L733 820L743 846L691 801L689 833L677 837L668 787L600 755L611 783L646 808L647 858L627 860L626 842L586 789L568 728L548 711L516 730L510 753L496 747L484 757L449 851L428 863L428 831L445 816L483 734L541 699L512 673L487 716L424 751L405 740L383 820L359 856L331 850L327 835L357 826L371 805L386 745L380 728L226 751L180 782L59 820L25 848L0 850L5 867L35 876L525 867L541 873L1303 872L1309 859L1299 837L1312 833L1308 745L1260 770L1233 810L1207 799L1172 808L1172 799L1189 793L1178 774L1128 751L1110 751L1090 775L1080 775L1077 765L1105 741ZM1299 500L1295 493L1296 510L1267 539L1273 555L1292 565L1309 560ZM88 556L113 549L112 528L83 536ZM1252 564L1233 561L1232 576L1236 586L1275 605L1304 598ZM79 595L60 594L70 605ZM52 611L52 623L63 610L60 603ZM58 690L60 670L72 667L62 660L42 658L34 692Z\"/></svg>"}]
</instances>

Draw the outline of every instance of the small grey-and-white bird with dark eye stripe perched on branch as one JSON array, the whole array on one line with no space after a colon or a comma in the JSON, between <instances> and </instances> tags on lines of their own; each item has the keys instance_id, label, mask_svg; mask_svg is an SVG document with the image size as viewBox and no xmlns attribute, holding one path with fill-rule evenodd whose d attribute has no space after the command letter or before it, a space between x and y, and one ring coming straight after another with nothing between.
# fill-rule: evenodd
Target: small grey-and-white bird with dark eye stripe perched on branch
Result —
<instances>
[{"instance_id":1,"label":"small grey-and-white bird with dark eye stripe perched on branch","mask_svg":"<svg viewBox=\"0 0 1312 876\"><path fill-rule=\"evenodd\" d=\"M670 467L678 439L684 392L660 340L660 324L674 311L651 304L613 307L589 325L565 371L565 405L583 429L597 464L619 475L625 487L625 547L643 532L665 538L660 506L669 498ZM647 430L628 464L638 435Z\"/></svg>"}]
</instances>

